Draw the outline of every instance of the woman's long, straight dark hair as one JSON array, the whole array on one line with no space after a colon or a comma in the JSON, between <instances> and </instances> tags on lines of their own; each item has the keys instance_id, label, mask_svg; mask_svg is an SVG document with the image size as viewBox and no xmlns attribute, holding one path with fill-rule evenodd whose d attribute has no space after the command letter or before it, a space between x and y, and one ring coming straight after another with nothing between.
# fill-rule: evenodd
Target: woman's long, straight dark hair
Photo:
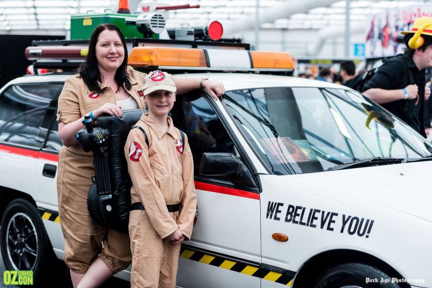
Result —
<instances>
[{"instance_id":1,"label":"woman's long, straight dark hair","mask_svg":"<svg viewBox=\"0 0 432 288\"><path fill-rule=\"evenodd\" d=\"M116 74L114 76L114 80L117 83L117 90L123 86L123 83L126 86L126 89L130 89L130 79L129 75L126 73L127 69L127 47L126 41L124 40L123 34L120 29L114 24L101 24L96 27L91 34L90 42L88 43L88 54L79 68L79 75L84 81L85 85L87 85L88 89L92 92L101 93L101 87L98 84L102 82L101 72L98 68L98 59L96 58L96 43L98 42L99 34L101 34L104 30L116 31L119 34L121 42L124 47L124 59L119 68L117 68Z\"/></svg>"}]
</instances>

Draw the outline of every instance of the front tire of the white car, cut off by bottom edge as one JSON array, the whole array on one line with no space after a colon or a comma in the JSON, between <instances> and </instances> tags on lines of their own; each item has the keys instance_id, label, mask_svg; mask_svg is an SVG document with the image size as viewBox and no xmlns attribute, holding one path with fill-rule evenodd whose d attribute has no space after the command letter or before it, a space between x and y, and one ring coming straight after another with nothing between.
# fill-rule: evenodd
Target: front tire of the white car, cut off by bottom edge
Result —
<instances>
[{"instance_id":1,"label":"front tire of the white car, cut off by bottom edge","mask_svg":"<svg viewBox=\"0 0 432 288\"><path fill-rule=\"evenodd\" d=\"M376 282L369 281L366 278L376 279ZM381 278L384 280L381 282ZM387 282L386 282L386 279ZM345 263L335 266L323 274L313 285L315 288L401 288L398 283L392 282L392 277L373 266L362 263Z\"/></svg>"}]
</instances>

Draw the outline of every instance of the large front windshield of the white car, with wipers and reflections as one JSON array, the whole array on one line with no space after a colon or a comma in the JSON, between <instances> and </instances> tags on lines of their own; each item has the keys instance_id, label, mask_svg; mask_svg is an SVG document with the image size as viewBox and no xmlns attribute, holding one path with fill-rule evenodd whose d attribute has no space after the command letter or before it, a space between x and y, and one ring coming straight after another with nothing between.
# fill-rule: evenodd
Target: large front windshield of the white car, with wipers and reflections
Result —
<instances>
[{"instance_id":1,"label":"large front windshield of the white car, with wipers and reflections","mask_svg":"<svg viewBox=\"0 0 432 288\"><path fill-rule=\"evenodd\" d=\"M277 175L321 172L373 157L432 154L420 134L355 91L259 88L226 92L223 101Z\"/></svg>"}]
</instances>

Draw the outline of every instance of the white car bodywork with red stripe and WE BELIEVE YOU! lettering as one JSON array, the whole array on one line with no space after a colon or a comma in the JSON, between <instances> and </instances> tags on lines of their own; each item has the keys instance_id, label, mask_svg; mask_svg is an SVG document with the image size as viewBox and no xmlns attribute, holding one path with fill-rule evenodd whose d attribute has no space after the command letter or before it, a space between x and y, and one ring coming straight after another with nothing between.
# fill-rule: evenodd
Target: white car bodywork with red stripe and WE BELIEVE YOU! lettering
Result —
<instances>
[{"instance_id":1,"label":"white car bodywork with red stripe and WE BELIEVE YOU! lettering","mask_svg":"<svg viewBox=\"0 0 432 288\"><path fill-rule=\"evenodd\" d=\"M0 95L10 85L63 82L67 77L21 77L9 82ZM349 89L322 81L257 74L206 73L179 77L219 80L226 91L263 87ZM369 255L405 279L420 279L412 285L432 287L432 196L427 189L430 162L271 175L223 103L218 101L215 105L220 119L247 154L261 188L254 193L196 183L198 220L192 239L182 248L178 286L296 286L296 275L308 261L338 250ZM44 211L43 224L54 252L62 259L64 243L57 217L56 178L42 176L43 166L57 165L57 161L53 153L29 152L25 147L0 143L0 186L29 195L38 209ZM269 212L272 205L276 208ZM296 218L286 219L290 218L289 208L296 206L300 207ZM314 220L311 213L316 217ZM356 223L359 226L362 223L361 228L356 228ZM288 241L275 241L273 233L287 235ZM219 262L210 264L214 259ZM258 269L261 274L256 273ZM129 271L118 276L129 279Z\"/></svg>"}]
</instances>

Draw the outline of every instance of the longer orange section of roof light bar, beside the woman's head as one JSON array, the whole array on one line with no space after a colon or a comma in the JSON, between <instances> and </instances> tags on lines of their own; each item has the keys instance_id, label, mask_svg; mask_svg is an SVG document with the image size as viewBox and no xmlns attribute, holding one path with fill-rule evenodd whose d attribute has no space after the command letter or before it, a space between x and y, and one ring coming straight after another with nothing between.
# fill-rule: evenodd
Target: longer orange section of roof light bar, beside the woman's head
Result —
<instances>
[{"instance_id":1,"label":"longer orange section of roof light bar, beside the woman's head","mask_svg":"<svg viewBox=\"0 0 432 288\"><path fill-rule=\"evenodd\" d=\"M128 64L137 67L183 66L207 67L202 49L176 49L165 47L133 47Z\"/></svg>"}]
</instances>

